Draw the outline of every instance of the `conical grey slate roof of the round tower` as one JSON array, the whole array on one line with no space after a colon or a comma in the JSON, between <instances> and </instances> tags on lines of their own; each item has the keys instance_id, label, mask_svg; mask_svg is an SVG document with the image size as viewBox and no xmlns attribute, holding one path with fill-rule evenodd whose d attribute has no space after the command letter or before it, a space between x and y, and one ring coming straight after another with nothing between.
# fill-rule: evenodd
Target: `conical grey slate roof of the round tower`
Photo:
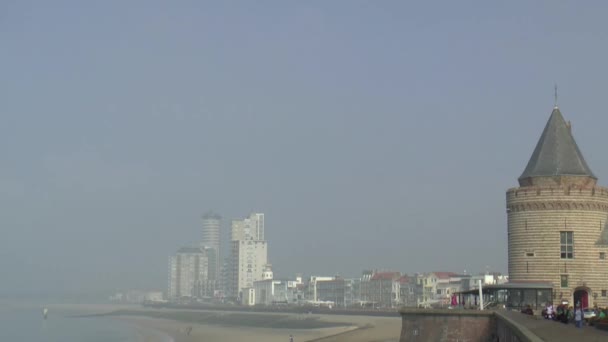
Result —
<instances>
[{"instance_id":1,"label":"conical grey slate roof of the round tower","mask_svg":"<svg viewBox=\"0 0 608 342\"><path fill-rule=\"evenodd\" d=\"M586 176L597 179L578 149L559 108L555 107L528 166L519 180L530 177Z\"/></svg>"}]
</instances>

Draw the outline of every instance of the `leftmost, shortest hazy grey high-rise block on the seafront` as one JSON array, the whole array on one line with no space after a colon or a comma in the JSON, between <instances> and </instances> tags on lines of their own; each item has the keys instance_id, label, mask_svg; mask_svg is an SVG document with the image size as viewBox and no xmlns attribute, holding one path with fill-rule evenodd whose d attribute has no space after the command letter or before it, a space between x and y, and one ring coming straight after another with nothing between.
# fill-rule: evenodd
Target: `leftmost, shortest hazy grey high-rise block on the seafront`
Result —
<instances>
[{"instance_id":1,"label":"leftmost, shortest hazy grey high-rise block on the seafront","mask_svg":"<svg viewBox=\"0 0 608 342\"><path fill-rule=\"evenodd\" d=\"M207 291L208 259L199 247L182 247L169 257L169 298L200 298Z\"/></svg>"}]
</instances>

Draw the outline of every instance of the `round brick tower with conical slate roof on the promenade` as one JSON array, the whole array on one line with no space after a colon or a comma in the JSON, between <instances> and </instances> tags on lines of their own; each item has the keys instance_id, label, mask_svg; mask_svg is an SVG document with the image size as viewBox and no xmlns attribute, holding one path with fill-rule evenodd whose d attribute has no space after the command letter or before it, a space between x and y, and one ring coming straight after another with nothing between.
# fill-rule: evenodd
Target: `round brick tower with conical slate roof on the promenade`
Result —
<instances>
[{"instance_id":1,"label":"round brick tower with conical slate roof on the promenade","mask_svg":"<svg viewBox=\"0 0 608 342\"><path fill-rule=\"evenodd\" d=\"M608 189L597 186L556 106L507 191L510 282L553 285L553 301L608 306Z\"/></svg>"}]
</instances>

